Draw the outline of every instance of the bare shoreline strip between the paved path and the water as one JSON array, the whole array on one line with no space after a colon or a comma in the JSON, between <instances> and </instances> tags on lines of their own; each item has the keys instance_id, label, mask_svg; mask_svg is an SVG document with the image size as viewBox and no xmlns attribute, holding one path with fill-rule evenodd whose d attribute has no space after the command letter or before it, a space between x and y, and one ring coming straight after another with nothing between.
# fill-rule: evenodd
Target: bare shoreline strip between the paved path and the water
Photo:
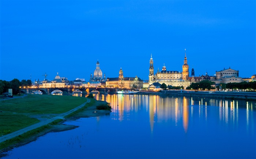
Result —
<instances>
[{"instance_id":1,"label":"bare shoreline strip between the paved path and the water","mask_svg":"<svg viewBox=\"0 0 256 159\"><path fill-rule=\"evenodd\" d=\"M74 126L74 125L63 124L67 120L77 120L79 118L96 117L96 116L102 116L102 115L106 115L106 114L110 113L111 111L96 110L96 106L98 106L99 104L101 104L103 102L104 101L96 100L94 106L87 107L83 111L79 111L77 114L72 115L68 118L65 118L62 122L58 123L57 125L53 125L50 128L46 128L44 131L41 131L38 134L34 134L34 135L30 136L29 138L26 138L17 144L14 144L12 146L9 146L7 148L0 150L0 158L8 155L8 154L6 154L7 151L10 151L15 147L20 147L22 145L33 142L33 141L37 140L37 138L39 138L40 136L44 136L45 134L47 134L49 132L67 131L67 130L72 130L72 129L75 129L78 127L78 126Z\"/></svg>"}]
</instances>

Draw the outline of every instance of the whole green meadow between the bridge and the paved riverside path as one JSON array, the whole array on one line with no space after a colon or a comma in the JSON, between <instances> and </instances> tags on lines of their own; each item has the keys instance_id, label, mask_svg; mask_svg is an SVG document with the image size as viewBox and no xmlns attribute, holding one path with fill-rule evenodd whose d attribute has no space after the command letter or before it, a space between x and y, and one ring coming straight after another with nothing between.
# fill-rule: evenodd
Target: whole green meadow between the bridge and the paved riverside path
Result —
<instances>
[{"instance_id":1,"label":"whole green meadow between the bridge and the paved riverside path","mask_svg":"<svg viewBox=\"0 0 256 159\"><path fill-rule=\"evenodd\" d=\"M27 95L24 98L0 101L0 135L10 134L39 120L33 115L60 114L86 102L86 98L74 96Z\"/></svg>"}]
</instances>

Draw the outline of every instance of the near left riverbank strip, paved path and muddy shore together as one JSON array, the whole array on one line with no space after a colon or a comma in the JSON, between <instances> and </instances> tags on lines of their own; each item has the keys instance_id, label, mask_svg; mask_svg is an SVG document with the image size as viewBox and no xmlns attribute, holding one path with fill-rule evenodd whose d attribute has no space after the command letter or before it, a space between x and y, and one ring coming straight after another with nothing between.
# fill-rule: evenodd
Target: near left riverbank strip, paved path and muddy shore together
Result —
<instances>
[{"instance_id":1,"label":"near left riverbank strip, paved path and muddy shore together","mask_svg":"<svg viewBox=\"0 0 256 159\"><path fill-rule=\"evenodd\" d=\"M40 96L41 97L41 96ZM48 132L59 132L71 130L76 126L63 124L66 120L75 120L78 118L87 118L90 116L101 116L111 111L96 110L96 107L103 101L95 99L85 99L85 103L75 107L68 112L61 114L27 114L32 119L38 119L40 122L27 126L18 131L12 132L7 135L0 136L0 157L4 155L3 152L9 151L14 147L19 147L29 142L36 140L39 136L45 135ZM1 109L3 107L1 106ZM3 111L1 112L3 113ZM15 113L16 114L16 113Z\"/></svg>"}]
</instances>

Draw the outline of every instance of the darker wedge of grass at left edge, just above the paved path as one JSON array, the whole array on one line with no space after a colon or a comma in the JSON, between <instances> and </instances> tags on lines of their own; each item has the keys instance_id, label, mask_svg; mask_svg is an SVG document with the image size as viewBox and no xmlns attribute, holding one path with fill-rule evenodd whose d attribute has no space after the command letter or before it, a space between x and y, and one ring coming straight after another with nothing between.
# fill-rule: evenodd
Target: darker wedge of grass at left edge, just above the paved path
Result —
<instances>
[{"instance_id":1,"label":"darker wedge of grass at left edge, just above the paved path","mask_svg":"<svg viewBox=\"0 0 256 159\"><path fill-rule=\"evenodd\" d=\"M10 134L38 122L38 119L26 115L0 112L0 135Z\"/></svg>"}]
</instances>

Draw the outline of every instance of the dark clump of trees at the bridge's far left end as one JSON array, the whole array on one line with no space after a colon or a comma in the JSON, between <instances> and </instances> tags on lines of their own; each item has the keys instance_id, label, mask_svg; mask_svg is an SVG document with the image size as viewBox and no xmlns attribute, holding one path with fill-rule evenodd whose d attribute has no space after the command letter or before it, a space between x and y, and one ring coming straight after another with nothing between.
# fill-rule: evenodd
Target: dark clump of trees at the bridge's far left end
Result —
<instances>
[{"instance_id":1,"label":"dark clump of trees at the bridge's far left end","mask_svg":"<svg viewBox=\"0 0 256 159\"><path fill-rule=\"evenodd\" d=\"M0 94L8 92L8 89L12 89L12 94L18 94L20 87L32 86L31 80L22 80L21 82L18 79L13 79L11 81L0 80Z\"/></svg>"}]
</instances>

